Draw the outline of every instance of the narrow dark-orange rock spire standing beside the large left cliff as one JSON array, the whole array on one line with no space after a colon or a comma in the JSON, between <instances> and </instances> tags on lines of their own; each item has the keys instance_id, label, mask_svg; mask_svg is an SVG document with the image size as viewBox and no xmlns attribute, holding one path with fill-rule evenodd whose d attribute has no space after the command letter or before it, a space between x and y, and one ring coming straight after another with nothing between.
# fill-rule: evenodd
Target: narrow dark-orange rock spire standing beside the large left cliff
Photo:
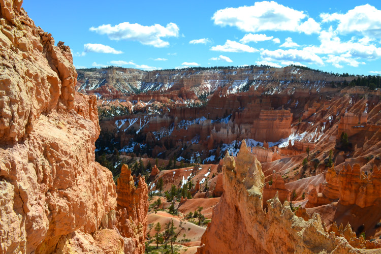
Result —
<instances>
[{"instance_id":1,"label":"narrow dark-orange rock spire standing beside the large left cliff","mask_svg":"<svg viewBox=\"0 0 381 254\"><path fill-rule=\"evenodd\" d=\"M124 238L124 253L144 253L147 231L148 187L138 176L135 186L131 170L123 164L117 182L115 226Z\"/></svg>"}]
</instances>

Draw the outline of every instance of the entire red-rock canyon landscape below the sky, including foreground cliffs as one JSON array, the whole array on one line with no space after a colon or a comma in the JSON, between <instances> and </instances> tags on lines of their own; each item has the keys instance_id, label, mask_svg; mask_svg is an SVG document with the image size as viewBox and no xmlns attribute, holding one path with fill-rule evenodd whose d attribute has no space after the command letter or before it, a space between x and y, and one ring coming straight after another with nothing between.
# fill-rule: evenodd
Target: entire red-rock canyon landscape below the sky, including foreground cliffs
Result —
<instances>
[{"instance_id":1,"label":"entire red-rock canyon landscape below the sky, including foreground cliffs","mask_svg":"<svg viewBox=\"0 0 381 254\"><path fill-rule=\"evenodd\" d=\"M0 253L381 251L379 89L301 66L76 70L0 5Z\"/></svg>"}]
</instances>

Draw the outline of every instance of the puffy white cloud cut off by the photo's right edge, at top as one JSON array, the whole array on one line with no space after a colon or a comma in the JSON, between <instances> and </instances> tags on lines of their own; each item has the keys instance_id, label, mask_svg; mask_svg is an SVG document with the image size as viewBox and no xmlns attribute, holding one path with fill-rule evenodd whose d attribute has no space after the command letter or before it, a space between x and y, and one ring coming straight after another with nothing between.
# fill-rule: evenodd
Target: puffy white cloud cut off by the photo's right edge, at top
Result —
<instances>
[{"instance_id":1,"label":"puffy white cloud cut off by the photo's right edge, at top","mask_svg":"<svg viewBox=\"0 0 381 254\"><path fill-rule=\"evenodd\" d=\"M381 11L369 4L356 6L345 14L322 13L320 17L323 22L338 21L336 30L340 34L358 33L381 39Z\"/></svg>"}]
</instances>

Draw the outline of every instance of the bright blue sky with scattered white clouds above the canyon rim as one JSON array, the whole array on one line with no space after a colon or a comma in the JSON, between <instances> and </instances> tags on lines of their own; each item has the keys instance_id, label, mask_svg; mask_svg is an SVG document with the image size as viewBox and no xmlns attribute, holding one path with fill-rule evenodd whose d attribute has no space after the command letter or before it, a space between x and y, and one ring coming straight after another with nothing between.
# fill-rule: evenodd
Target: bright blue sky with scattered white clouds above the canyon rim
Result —
<instances>
[{"instance_id":1,"label":"bright blue sky with scattered white clouds above the canyon rim","mask_svg":"<svg viewBox=\"0 0 381 254\"><path fill-rule=\"evenodd\" d=\"M287 66L381 73L381 2L59 1L23 8L74 65Z\"/></svg>"}]
</instances>

